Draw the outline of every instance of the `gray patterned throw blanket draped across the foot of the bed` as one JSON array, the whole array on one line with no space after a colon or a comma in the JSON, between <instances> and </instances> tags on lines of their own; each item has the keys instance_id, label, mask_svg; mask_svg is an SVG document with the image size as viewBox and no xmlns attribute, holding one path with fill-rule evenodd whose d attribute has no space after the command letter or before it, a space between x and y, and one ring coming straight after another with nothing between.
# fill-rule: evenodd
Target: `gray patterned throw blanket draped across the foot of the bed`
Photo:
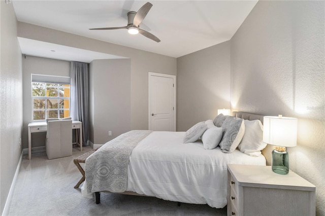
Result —
<instances>
[{"instance_id":1,"label":"gray patterned throw blanket draped across the foot of the bed","mask_svg":"<svg viewBox=\"0 0 325 216\"><path fill-rule=\"evenodd\" d=\"M90 155L85 164L88 193L98 191L124 192L127 187L129 156L150 130L132 130L105 143Z\"/></svg>"}]
</instances>

